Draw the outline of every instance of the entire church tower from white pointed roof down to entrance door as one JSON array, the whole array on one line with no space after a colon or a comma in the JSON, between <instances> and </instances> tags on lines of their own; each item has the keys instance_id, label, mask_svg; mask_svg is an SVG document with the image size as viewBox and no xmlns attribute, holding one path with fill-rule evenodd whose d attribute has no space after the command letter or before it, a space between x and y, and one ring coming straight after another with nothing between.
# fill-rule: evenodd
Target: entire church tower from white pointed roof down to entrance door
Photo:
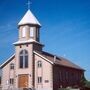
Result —
<instances>
[{"instance_id":1,"label":"entire church tower from white pointed roof down to entrance door","mask_svg":"<svg viewBox=\"0 0 90 90\"><path fill-rule=\"evenodd\" d=\"M19 88L34 86L34 54L33 51L42 51L43 45L40 43L40 27L41 24L28 9L24 17L18 23L18 41L15 45L16 59L16 76L18 82L22 82L20 78L27 77L25 83L27 85L16 85Z\"/></svg>"}]
</instances>

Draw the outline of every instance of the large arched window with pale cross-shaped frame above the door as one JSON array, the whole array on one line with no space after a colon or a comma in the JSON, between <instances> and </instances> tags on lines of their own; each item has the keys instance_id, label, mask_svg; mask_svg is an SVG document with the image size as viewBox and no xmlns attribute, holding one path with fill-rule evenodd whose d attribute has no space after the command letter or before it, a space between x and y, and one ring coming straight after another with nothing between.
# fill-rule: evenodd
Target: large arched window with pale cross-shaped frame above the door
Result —
<instances>
[{"instance_id":1,"label":"large arched window with pale cross-shaped frame above the door","mask_svg":"<svg viewBox=\"0 0 90 90\"><path fill-rule=\"evenodd\" d=\"M19 62L19 67L20 68L28 68L28 52L27 50L22 50L20 52L20 62Z\"/></svg>"}]
</instances>

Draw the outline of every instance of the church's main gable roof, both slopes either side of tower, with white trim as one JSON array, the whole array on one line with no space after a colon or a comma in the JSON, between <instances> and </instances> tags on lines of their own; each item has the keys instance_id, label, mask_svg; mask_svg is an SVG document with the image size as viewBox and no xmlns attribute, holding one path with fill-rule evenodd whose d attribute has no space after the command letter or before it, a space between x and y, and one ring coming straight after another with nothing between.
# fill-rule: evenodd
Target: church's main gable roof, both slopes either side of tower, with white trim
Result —
<instances>
[{"instance_id":1,"label":"church's main gable roof, both slopes either side of tower, with white trim","mask_svg":"<svg viewBox=\"0 0 90 90\"><path fill-rule=\"evenodd\" d=\"M71 61L61 56L56 56L56 55L53 55L51 53L44 52L44 51L41 51L41 52L34 51L33 53L37 54L38 56L40 56L41 58L43 58L44 60L48 61L51 64L56 64L56 65L84 71L84 69L82 69L80 66L72 63ZM5 65L7 65L10 61L13 60L13 58L15 58L15 54L13 54L9 59L7 59L7 61L5 61L2 65L0 65L0 68L3 68Z\"/></svg>"}]
</instances>

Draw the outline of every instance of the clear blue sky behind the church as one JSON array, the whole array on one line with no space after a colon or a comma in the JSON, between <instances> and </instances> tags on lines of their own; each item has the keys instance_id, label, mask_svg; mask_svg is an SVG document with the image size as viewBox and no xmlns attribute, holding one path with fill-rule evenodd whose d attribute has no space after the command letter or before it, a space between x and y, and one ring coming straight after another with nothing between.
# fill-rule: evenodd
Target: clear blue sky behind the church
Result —
<instances>
[{"instance_id":1,"label":"clear blue sky behind the church","mask_svg":"<svg viewBox=\"0 0 90 90\"><path fill-rule=\"evenodd\" d=\"M31 0L30 9L42 25L43 50L81 66L90 80L90 0ZM0 64L15 52L26 11L27 0L0 1Z\"/></svg>"}]
</instances>

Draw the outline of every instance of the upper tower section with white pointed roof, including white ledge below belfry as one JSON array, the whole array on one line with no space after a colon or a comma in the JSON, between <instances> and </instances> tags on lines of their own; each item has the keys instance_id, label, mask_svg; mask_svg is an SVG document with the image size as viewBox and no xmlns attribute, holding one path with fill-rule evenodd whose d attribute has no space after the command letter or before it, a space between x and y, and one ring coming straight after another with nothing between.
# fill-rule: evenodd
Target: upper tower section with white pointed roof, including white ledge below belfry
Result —
<instances>
[{"instance_id":1,"label":"upper tower section with white pointed roof, including white ledge below belfry","mask_svg":"<svg viewBox=\"0 0 90 90\"><path fill-rule=\"evenodd\" d=\"M18 23L19 38L14 44L30 44L33 43L33 49L42 49L42 44L40 43L40 27L41 24L33 15L33 13L28 9L24 17ZM36 47L39 48L36 48Z\"/></svg>"}]
</instances>

